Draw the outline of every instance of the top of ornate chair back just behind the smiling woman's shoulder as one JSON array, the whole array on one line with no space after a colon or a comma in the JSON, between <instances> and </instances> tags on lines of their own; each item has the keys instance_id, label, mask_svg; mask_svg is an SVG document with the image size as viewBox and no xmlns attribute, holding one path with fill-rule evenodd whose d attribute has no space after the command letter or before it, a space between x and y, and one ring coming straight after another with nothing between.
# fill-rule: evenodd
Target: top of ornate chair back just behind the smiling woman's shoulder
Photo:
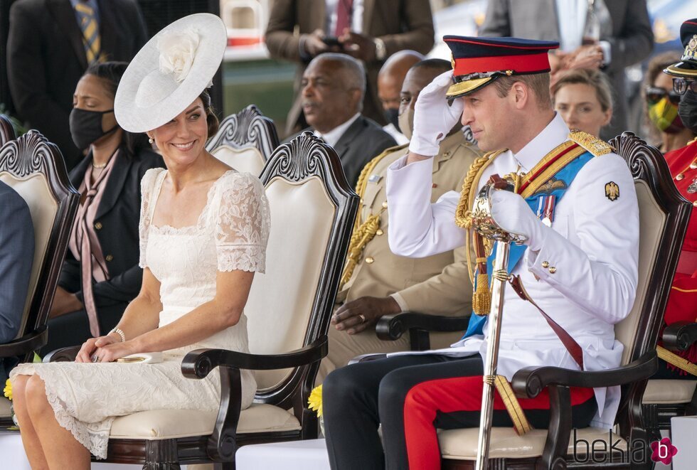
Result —
<instances>
[{"instance_id":1,"label":"top of ornate chair back just behind the smiling woman's shoulder","mask_svg":"<svg viewBox=\"0 0 697 470\"><path fill-rule=\"evenodd\" d=\"M273 121L249 105L223 119L206 149L235 170L258 175L278 144Z\"/></svg>"}]
</instances>

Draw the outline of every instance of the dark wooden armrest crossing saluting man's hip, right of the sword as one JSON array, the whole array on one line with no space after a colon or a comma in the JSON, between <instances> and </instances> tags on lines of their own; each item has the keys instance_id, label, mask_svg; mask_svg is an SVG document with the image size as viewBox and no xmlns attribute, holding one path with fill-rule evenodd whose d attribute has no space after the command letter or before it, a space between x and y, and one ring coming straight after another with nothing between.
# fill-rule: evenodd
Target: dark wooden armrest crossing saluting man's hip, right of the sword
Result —
<instances>
[{"instance_id":1,"label":"dark wooden armrest crossing saluting man's hip, right of the sword","mask_svg":"<svg viewBox=\"0 0 697 470\"><path fill-rule=\"evenodd\" d=\"M558 367L528 367L518 370L511 383L518 397L534 398L549 385L568 387L612 387L651 377L658 370L656 351L619 368L588 372Z\"/></svg>"}]
</instances>

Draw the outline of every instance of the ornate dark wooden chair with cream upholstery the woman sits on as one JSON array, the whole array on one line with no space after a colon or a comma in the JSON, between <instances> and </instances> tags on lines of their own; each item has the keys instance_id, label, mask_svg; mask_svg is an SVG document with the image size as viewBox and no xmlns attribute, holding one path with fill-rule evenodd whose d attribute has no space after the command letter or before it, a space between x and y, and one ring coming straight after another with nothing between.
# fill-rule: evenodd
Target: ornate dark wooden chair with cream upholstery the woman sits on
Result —
<instances>
[{"instance_id":1,"label":"ornate dark wooden chair with cream upholstery the woman sits on","mask_svg":"<svg viewBox=\"0 0 697 470\"><path fill-rule=\"evenodd\" d=\"M245 306L251 353L188 353L181 365L186 377L220 369L218 412L159 410L119 417L107 461L145 464L144 469L214 461L232 469L238 446L317 436L307 399L326 356L358 196L334 149L309 132L277 148L261 180L272 224L267 271L255 276ZM68 360L76 352L55 351L45 360ZM255 402L241 412L240 369L257 371Z\"/></svg>"}]
</instances>

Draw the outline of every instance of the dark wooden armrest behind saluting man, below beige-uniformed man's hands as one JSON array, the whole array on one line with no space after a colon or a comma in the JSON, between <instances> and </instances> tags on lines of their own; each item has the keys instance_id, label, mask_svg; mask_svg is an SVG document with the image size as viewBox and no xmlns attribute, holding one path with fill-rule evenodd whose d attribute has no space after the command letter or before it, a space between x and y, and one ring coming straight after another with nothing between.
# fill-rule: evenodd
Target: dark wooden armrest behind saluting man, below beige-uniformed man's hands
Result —
<instances>
[{"instance_id":1,"label":"dark wooden armrest behind saluting man, below beige-uniformed man's hands","mask_svg":"<svg viewBox=\"0 0 697 470\"><path fill-rule=\"evenodd\" d=\"M425 331L465 331L469 317L420 314L406 311L396 315L384 315L378 320L375 331L383 341L396 341L410 329Z\"/></svg>"}]
</instances>

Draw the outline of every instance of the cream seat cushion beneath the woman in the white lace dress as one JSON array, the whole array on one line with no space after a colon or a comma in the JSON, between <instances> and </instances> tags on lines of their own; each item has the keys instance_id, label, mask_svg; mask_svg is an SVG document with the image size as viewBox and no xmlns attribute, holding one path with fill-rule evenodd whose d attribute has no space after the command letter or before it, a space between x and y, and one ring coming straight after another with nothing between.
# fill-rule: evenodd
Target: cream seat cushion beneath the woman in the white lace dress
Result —
<instances>
[{"instance_id":1,"label":"cream seat cushion beneath the woman in the white lace dress","mask_svg":"<svg viewBox=\"0 0 697 470\"><path fill-rule=\"evenodd\" d=\"M217 411L154 410L117 417L112 439L176 439L206 436L213 432ZM253 404L240 413L238 433L297 431L300 423L292 413L266 404Z\"/></svg>"}]
</instances>

